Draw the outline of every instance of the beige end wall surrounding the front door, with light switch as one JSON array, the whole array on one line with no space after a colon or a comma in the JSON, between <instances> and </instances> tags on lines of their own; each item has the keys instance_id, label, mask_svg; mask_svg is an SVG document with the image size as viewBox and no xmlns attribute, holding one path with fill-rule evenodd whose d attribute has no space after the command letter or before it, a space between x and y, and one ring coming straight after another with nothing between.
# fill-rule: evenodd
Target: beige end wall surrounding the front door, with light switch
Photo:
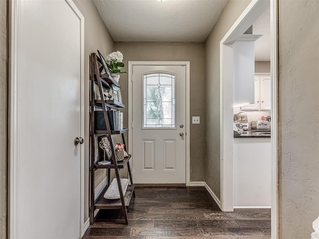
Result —
<instances>
[{"instance_id":1,"label":"beige end wall surrounding the front door, with light switch","mask_svg":"<svg viewBox=\"0 0 319 239\"><path fill-rule=\"evenodd\" d=\"M204 43L116 42L115 50L128 61L190 61L190 117L200 116L200 124L190 125L190 181L204 180L205 134L205 45ZM122 96L128 105L128 76L121 75ZM127 108L124 111L127 126Z\"/></svg>"}]
</instances>

